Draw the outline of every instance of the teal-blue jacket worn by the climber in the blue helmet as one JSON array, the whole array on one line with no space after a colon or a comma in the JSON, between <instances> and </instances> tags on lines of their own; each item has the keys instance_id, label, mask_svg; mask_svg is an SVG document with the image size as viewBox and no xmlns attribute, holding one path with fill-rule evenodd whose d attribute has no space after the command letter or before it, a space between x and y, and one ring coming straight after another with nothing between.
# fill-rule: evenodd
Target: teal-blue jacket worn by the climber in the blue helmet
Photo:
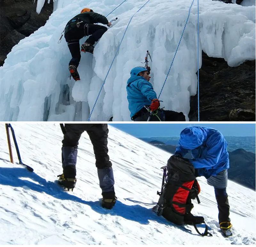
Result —
<instances>
[{"instance_id":1,"label":"teal-blue jacket worn by the climber in the blue helmet","mask_svg":"<svg viewBox=\"0 0 256 247\"><path fill-rule=\"evenodd\" d=\"M153 99L157 99L152 84L142 76L131 76L127 81L126 91L131 117L144 106L149 106Z\"/></svg>"}]
</instances>

